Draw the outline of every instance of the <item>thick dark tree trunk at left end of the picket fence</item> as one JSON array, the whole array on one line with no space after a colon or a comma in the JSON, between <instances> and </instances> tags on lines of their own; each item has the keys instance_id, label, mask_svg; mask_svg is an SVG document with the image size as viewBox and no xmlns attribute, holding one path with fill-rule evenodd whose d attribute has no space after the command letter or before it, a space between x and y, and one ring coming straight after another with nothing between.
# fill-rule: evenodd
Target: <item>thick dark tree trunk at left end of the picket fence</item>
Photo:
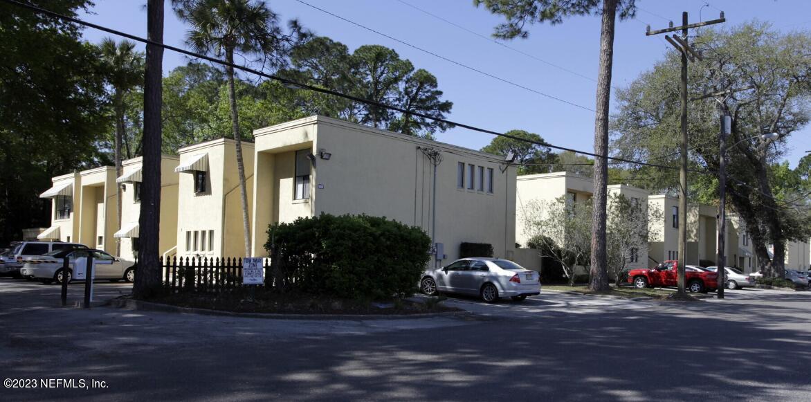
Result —
<instances>
[{"instance_id":1,"label":"thick dark tree trunk at left end of the picket fence","mask_svg":"<svg viewBox=\"0 0 811 402\"><path fill-rule=\"evenodd\" d=\"M163 0L148 0L147 36L163 43ZM144 72L144 172L139 218L139 262L133 296L153 297L161 291L158 235L161 219L161 92L163 48L147 44Z\"/></svg>"}]
</instances>

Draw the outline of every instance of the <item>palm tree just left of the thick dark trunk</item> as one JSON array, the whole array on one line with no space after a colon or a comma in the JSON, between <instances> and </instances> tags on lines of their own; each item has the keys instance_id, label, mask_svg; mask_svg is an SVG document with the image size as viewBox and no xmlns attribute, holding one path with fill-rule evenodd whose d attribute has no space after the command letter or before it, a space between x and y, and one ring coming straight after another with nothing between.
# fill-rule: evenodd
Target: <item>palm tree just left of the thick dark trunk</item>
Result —
<instances>
[{"instance_id":1,"label":"palm tree just left of the thick dark trunk","mask_svg":"<svg viewBox=\"0 0 811 402\"><path fill-rule=\"evenodd\" d=\"M121 41L118 44L106 37L99 44L101 61L107 73L106 81L113 90L115 113L115 176L122 175L122 139L124 138L124 96L144 81L144 53L135 50L135 43ZM127 155L129 157L129 155ZM116 186L116 223L121 229L121 186ZM115 254L121 255L121 242L115 242Z\"/></svg>"}]
</instances>

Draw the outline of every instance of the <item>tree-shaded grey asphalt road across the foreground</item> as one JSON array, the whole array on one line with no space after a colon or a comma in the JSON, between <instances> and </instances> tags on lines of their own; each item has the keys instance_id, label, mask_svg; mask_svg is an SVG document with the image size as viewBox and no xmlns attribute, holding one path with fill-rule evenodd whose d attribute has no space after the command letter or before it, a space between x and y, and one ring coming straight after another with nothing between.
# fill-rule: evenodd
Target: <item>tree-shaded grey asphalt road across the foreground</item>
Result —
<instances>
[{"instance_id":1,"label":"tree-shaded grey asphalt road across the foreground","mask_svg":"<svg viewBox=\"0 0 811 402\"><path fill-rule=\"evenodd\" d=\"M811 293L673 303L542 292L449 299L467 318L386 320L58 303L58 286L0 279L0 377L88 389L4 387L0 399L811 400Z\"/></svg>"}]
</instances>

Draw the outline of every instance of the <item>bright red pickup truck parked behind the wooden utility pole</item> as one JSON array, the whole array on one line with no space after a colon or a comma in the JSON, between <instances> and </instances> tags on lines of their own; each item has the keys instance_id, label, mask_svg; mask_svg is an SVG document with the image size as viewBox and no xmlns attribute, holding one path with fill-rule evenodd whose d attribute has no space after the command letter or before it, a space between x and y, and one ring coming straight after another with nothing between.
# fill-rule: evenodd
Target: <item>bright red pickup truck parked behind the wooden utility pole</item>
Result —
<instances>
[{"instance_id":1,"label":"bright red pickup truck parked behind the wooden utility pole","mask_svg":"<svg viewBox=\"0 0 811 402\"><path fill-rule=\"evenodd\" d=\"M678 261L670 260L650 269L632 269L628 272L628 283L637 288L678 286L678 266ZM687 289L693 293L707 293L710 290L718 289L718 274L715 272L687 267L684 270L684 280L687 283Z\"/></svg>"}]
</instances>

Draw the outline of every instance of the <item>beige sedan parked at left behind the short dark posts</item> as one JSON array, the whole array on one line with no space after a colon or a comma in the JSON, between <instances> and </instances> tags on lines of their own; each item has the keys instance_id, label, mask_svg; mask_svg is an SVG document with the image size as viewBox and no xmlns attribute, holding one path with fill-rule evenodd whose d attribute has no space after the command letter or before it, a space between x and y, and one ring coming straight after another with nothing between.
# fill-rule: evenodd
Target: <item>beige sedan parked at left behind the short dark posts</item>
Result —
<instances>
[{"instance_id":1,"label":"beige sedan parked at left behind the short dark posts","mask_svg":"<svg viewBox=\"0 0 811 402\"><path fill-rule=\"evenodd\" d=\"M62 272L63 260L68 258L67 281L73 278L73 265L76 259L87 258L92 254L93 269L96 279L106 279L117 282L118 280L135 280L135 267L129 261L122 261L101 250L78 249L78 250L56 250L45 255L24 259L20 273L42 280L46 284L56 281L61 284L65 276Z\"/></svg>"}]
</instances>

